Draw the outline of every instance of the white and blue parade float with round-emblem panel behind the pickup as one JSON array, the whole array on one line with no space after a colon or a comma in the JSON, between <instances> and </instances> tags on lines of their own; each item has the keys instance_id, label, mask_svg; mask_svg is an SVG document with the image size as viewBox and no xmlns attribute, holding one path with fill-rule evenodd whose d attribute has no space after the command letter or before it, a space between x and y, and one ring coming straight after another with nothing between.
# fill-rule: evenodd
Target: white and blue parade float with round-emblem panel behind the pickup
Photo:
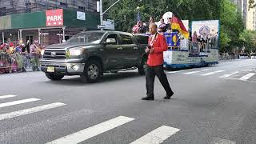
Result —
<instances>
[{"instance_id":1,"label":"white and blue parade float with round-emblem panel behind the pickup","mask_svg":"<svg viewBox=\"0 0 256 144\"><path fill-rule=\"evenodd\" d=\"M167 12L163 15L165 22L170 14ZM183 20L182 25L187 32L190 31L189 37L181 30L173 29L164 33L169 47L164 52L164 66L176 69L218 64L219 21L190 23L188 20Z\"/></svg>"}]
</instances>

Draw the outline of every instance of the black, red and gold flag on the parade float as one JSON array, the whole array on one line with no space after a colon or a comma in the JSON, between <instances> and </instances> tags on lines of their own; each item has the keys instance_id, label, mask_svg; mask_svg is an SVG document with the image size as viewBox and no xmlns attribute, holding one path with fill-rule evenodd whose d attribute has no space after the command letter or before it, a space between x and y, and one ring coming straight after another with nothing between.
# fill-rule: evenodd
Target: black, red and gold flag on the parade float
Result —
<instances>
[{"instance_id":1,"label":"black, red and gold flag on the parade float","mask_svg":"<svg viewBox=\"0 0 256 144\"><path fill-rule=\"evenodd\" d=\"M190 37L190 33L186 30L182 20L173 14L171 18L171 29L178 30L185 38Z\"/></svg>"}]
</instances>

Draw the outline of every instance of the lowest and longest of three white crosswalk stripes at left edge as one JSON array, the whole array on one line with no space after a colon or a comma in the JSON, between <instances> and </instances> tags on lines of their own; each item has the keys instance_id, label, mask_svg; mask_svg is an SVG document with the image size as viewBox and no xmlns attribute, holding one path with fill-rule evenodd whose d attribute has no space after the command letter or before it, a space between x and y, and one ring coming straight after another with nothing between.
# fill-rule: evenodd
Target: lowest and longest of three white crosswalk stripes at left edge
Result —
<instances>
[{"instance_id":1,"label":"lowest and longest of three white crosswalk stripes at left edge","mask_svg":"<svg viewBox=\"0 0 256 144\"><path fill-rule=\"evenodd\" d=\"M18 116L32 114L32 113L36 113L36 112L43 111L43 110L50 110L50 109L53 109L53 108L56 108L59 106L65 106L65 105L66 105L65 103L56 102L56 103L51 103L49 105L37 106L37 107L30 108L30 109L18 110L18 111L14 111L11 113L0 114L0 121L3 119L15 118Z\"/></svg>"}]
</instances>

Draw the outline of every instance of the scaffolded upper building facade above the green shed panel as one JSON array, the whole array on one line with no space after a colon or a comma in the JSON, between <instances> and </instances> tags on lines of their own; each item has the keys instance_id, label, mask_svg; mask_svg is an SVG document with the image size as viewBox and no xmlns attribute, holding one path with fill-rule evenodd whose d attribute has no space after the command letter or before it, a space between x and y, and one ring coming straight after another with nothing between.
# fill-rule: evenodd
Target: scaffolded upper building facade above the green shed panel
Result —
<instances>
[{"instance_id":1,"label":"scaffolded upper building facade above the green shed panel","mask_svg":"<svg viewBox=\"0 0 256 144\"><path fill-rule=\"evenodd\" d=\"M43 10L97 11L96 0L0 0L0 16Z\"/></svg>"}]
</instances>

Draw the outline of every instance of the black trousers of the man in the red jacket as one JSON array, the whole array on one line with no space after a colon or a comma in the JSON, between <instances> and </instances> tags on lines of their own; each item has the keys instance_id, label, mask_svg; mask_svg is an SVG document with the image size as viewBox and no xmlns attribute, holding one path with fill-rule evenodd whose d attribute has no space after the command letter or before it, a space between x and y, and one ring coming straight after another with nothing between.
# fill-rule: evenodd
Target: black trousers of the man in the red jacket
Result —
<instances>
[{"instance_id":1,"label":"black trousers of the man in the red jacket","mask_svg":"<svg viewBox=\"0 0 256 144\"><path fill-rule=\"evenodd\" d=\"M163 66L146 66L146 95L147 97L154 98L154 77L157 76L161 82L163 88L166 90L166 94L172 94L166 73L163 70Z\"/></svg>"}]
</instances>

